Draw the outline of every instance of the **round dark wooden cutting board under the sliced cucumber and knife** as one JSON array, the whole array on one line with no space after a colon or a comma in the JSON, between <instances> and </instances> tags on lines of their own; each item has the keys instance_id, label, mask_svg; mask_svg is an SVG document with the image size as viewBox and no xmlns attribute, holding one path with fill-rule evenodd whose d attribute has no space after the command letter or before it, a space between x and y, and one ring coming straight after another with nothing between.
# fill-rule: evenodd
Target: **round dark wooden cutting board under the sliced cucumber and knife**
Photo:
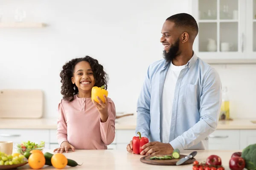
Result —
<instances>
[{"instance_id":1,"label":"round dark wooden cutting board under the sliced cucumber and knife","mask_svg":"<svg viewBox=\"0 0 256 170\"><path fill-rule=\"evenodd\" d=\"M149 156L143 156L140 158L140 161L145 163L145 164L154 164L154 165L175 165L176 166L176 162L179 161L181 158L186 157L186 155L180 155L179 159L150 159L153 156L165 156L165 155L149 155ZM172 156L172 155L168 155L168 156ZM185 165L185 164L192 164L195 161L195 158L189 159L187 161L185 161L183 164L181 165ZM180 166L180 165L179 165Z\"/></svg>"}]
</instances>

